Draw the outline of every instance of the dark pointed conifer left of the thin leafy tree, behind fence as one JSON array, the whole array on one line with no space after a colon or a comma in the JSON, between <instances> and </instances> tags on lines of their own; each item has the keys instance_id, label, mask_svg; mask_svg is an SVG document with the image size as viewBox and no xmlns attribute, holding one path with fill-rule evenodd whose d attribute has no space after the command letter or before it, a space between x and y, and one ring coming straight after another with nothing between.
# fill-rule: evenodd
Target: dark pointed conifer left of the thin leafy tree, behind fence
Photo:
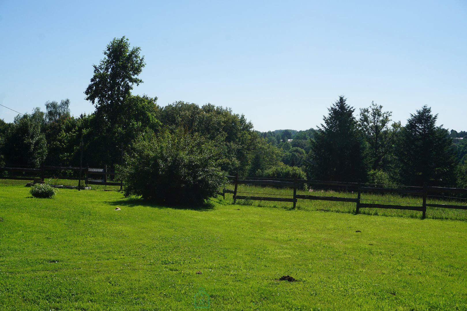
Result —
<instances>
[{"instance_id":1,"label":"dark pointed conifer left of the thin leafy tree, behind fence","mask_svg":"<svg viewBox=\"0 0 467 311\"><path fill-rule=\"evenodd\" d=\"M311 141L308 173L317 180L365 180L364 144L358 131L355 109L339 97L324 117Z\"/></svg>"}]
</instances>

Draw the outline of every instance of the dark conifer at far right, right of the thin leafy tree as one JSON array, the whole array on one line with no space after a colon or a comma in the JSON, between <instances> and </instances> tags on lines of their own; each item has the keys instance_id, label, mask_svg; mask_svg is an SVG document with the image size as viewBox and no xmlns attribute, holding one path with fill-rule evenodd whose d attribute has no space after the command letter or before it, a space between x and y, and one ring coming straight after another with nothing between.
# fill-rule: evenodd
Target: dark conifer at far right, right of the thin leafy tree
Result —
<instances>
[{"instance_id":1,"label":"dark conifer at far right, right of the thin leafy tree","mask_svg":"<svg viewBox=\"0 0 467 311\"><path fill-rule=\"evenodd\" d=\"M399 143L401 181L404 185L455 184L456 154L449 132L436 126L438 115L426 105L410 114Z\"/></svg>"}]
</instances>

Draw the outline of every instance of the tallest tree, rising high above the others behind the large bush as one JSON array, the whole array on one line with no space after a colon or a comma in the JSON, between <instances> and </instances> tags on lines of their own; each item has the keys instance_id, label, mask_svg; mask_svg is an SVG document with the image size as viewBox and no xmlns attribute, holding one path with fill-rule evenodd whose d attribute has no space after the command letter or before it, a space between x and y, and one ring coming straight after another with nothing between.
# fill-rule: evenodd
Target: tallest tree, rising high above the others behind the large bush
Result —
<instances>
[{"instance_id":1,"label":"tallest tree, rising high above the others behind the large bush","mask_svg":"<svg viewBox=\"0 0 467 311\"><path fill-rule=\"evenodd\" d=\"M102 166L120 163L121 144L128 146L144 131L156 131L157 97L133 96L133 85L144 67L141 48L130 48L128 39L113 39L104 51L104 59L94 65L94 76L85 90L86 99L96 107L85 132L89 163Z\"/></svg>"}]
</instances>

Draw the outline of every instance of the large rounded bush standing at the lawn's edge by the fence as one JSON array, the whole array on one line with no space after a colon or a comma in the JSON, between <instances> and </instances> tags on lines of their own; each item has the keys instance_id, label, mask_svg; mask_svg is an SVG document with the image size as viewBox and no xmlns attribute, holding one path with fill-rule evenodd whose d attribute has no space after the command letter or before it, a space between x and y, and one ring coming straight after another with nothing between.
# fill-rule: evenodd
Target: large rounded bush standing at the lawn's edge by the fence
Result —
<instances>
[{"instance_id":1,"label":"large rounded bush standing at the lawn's edge by the fence","mask_svg":"<svg viewBox=\"0 0 467 311\"><path fill-rule=\"evenodd\" d=\"M218 153L211 141L181 129L146 133L125 156L124 194L163 204L203 203L226 180Z\"/></svg>"}]
</instances>

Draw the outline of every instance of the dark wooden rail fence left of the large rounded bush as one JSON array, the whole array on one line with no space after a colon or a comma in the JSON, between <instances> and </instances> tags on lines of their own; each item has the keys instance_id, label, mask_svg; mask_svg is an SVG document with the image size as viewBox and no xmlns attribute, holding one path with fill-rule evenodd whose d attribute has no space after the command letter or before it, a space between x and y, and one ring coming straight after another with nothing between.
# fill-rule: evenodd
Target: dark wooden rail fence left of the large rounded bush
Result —
<instances>
[{"instance_id":1,"label":"dark wooden rail fence left of the large rounded bush","mask_svg":"<svg viewBox=\"0 0 467 311\"><path fill-rule=\"evenodd\" d=\"M73 171L78 172L78 177L70 176L57 176L52 172L56 171ZM81 181L83 180L86 185L103 185L103 186L120 186L120 190L123 187L123 183L108 180L108 176L116 176L118 172L112 172L104 168L92 168L92 167L72 167L72 166L41 166L40 168L21 168L21 167L0 167L0 172L14 172L22 173L29 176L0 176L0 179L9 180L31 180L34 183L43 182L48 178L59 178L64 180L78 180L78 190L81 187ZM85 175L85 178L84 178ZM91 179L92 176L100 176L101 179Z\"/></svg>"}]
</instances>

